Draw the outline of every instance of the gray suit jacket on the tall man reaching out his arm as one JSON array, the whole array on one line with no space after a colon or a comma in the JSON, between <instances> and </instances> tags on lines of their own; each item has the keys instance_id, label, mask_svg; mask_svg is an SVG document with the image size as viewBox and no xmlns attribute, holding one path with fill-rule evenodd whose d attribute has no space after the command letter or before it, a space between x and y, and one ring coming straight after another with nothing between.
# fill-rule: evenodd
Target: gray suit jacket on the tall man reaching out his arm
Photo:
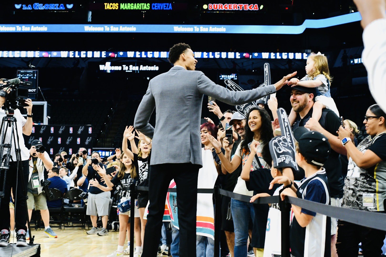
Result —
<instances>
[{"instance_id":1,"label":"gray suit jacket on the tall man reaching out his arm","mask_svg":"<svg viewBox=\"0 0 386 257\"><path fill-rule=\"evenodd\" d=\"M230 91L201 71L173 67L149 82L135 114L134 127L152 138L151 165L193 163L202 166L200 120L203 94L230 105L244 104L275 92L273 85ZM156 126L149 124L156 108Z\"/></svg>"}]
</instances>

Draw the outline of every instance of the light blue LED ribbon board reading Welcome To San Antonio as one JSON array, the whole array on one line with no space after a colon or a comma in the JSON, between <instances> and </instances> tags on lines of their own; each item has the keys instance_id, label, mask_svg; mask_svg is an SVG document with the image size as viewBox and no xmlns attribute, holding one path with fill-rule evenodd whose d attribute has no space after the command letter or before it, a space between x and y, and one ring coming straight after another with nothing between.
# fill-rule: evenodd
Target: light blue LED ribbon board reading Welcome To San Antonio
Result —
<instances>
[{"instance_id":1,"label":"light blue LED ribbon board reading Welcome To San Antonio","mask_svg":"<svg viewBox=\"0 0 386 257\"><path fill-rule=\"evenodd\" d=\"M169 24L0 24L0 32L106 32L106 33L223 33L223 34L301 34L305 29L320 29L362 19L359 12L320 20L305 20L302 25L169 25Z\"/></svg>"}]
</instances>

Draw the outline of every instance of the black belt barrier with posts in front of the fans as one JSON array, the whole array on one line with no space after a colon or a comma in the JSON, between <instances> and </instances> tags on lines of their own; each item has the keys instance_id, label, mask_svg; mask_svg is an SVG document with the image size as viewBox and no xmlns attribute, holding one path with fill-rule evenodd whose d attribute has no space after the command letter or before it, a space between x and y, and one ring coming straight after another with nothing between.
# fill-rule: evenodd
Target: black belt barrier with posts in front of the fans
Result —
<instances>
[{"instance_id":1,"label":"black belt barrier with posts in front of the fans","mask_svg":"<svg viewBox=\"0 0 386 257\"><path fill-rule=\"evenodd\" d=\"M135 186L130 185L130 199L135 197L138 191L149 191L147 186ZM168 192L177 192L177 188L169 188ZM197 193L213 193L215 196L215 251L214 256L220 256L220 226L221 223L221 196L227 196L236 200L247 202L251 200L248 195L240 195L231 191L223 190L220 186L214 188L198 188ZM291 204L299 206L301 208L310 210L312 212L320 213L328 217L337 218L354 224L360 224L364 227L375 228L378 230L386 231L386 213L354 210L343 207L335 207L325 205L323 203L316 203L296 197L285 197L284 201L281 200L279 195L270 197L259 197L254 204L268 204L279 203L281 212L281 256L291 257L289 251L289 215L291 211ZM130 217L134 217L135 201L130 202ZM130 218L130 238L134 238L134 218ZM169 249L170 250L170 249ZM134 254L134 244L130 244L130 256Z\"/></svg>"}]
</instances>

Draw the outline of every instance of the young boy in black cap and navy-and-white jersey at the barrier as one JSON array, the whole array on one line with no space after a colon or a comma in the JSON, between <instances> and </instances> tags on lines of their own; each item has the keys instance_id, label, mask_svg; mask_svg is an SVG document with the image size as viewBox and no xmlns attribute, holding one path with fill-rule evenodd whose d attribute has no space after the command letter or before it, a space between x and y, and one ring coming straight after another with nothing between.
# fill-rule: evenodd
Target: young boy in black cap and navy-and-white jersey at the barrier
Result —
<instances>
[{"instance_id":1,"label":"young boy in black cap and navy-and-white jersey at the barrier","mask_svg":"<svg viewBox=\"0 0 386 257\"><path fill-rule=\"evenodd\" d=\"M296 162L304 169L305 178L300 181L298 188L291 185L284 189L280 194L282 200L287 195L329 205L327 176L325 169L322 168L331 149L327 138L319 132L308 131L304 127L296 128L293 134L298 141ZM276 177L275 180L281 178ZM296 205L292 205L292 211L294 217L289 239L291 255L294 257L331 256L330 217Z\"/></svg>"}]
</instances>

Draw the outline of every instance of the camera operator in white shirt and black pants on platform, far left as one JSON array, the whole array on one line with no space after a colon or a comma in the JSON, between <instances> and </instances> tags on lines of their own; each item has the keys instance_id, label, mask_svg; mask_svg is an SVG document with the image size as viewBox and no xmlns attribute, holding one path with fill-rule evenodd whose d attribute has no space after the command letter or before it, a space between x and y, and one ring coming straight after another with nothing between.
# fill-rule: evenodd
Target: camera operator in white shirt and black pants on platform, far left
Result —
<instances>
[{"instance_id":1,"label":"camera operator in white shirt and black pants on platform, far left","mask_svg":"<svg viewBox=\"0 0 386 257\"><path fill-rule=\"evenodd\" d=\"M2 83L3 79L0 79L0 86L4 85ZM4 90L5 91L5 90ZM10 92L10 89L7 90L7 93ZM6 95L7 96L7 95ZM5 97L0 96L0 106L3 107L6 99ZM32 133L32 101L31 99L26 99L25 103L28 106L24 107L27 109L27 119L25 119L20 113L19 109L14 110L14 117L16 118L17 131L15 130L15 137L19 137L19 146L20 146L20 162L17 162L15 148L17 146L12 142L12 148L10 151L11 159L9 163L9 169L7 170L7 176L5 181L0 181L1 185L5 183L4 188L4 197L1 199L0 205L0 246L7 246L10 240L10 212L9 212L9 197L11 193L11 188L15 198L15 231L17 232L16 246L26 246L25 234L27 231L27 212L26 212L26 201L25 197L27 192L28 183L28 173L29 173L29 150L25 147L23 134L29 136ZM3 119L6 116L5 110L0 109L0 118ZM11 130L8 129L5 134L6 143L10 142ZM24 176L22 176L24 175Z\"/></svg>"}]
</instances>

